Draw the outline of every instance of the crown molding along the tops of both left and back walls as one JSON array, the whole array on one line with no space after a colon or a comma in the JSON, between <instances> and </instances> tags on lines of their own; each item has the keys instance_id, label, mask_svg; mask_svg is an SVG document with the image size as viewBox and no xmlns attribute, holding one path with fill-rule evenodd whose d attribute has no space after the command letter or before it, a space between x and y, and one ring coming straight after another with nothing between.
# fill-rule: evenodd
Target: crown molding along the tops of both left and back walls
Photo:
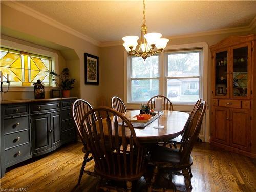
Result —
<instances>
[{"instance_id":1,"label":"crown molding along the tops of both left and back walls","mask_svg":"<svg viewBox=\"0 0 256 192\"><path fill-rule=\"evenodd\" d=\"M39 13L38 11L35 11L21 3L18 3L17 1L1 1L2 4L7 5L8 7L11 7L17 11L23 12L27 15L30 15L38 20L41 20L42 22L45 22L51 26L54 26L62 31L65 31L67 33L70 33L78 38L81 38L83 40L86 40L90 42L91 44L94 44L99 47L112 47L112 46L120 46L123 44L123 41L111 41L111 42L99 42L89 36L86 36L60 22L57 22L56 20ZM189 38L189 37L198 37L198 36L206 36L206 35L216 35L216 34L224 34L224 33L235 33L235 32L243 32L243 31L251 31L256 27L256 17L251 21L251 23L248 26L244 27L234 27L234 28L226 28L226 29L219 29L219 30L211 30L211 31L204 31L204 32L197 32L197 33L190 33L190 34L184 34L184 35L174 35L169 36L166 38L169 39L179 39L179 38Z\"/></svg>"}]
</instances>

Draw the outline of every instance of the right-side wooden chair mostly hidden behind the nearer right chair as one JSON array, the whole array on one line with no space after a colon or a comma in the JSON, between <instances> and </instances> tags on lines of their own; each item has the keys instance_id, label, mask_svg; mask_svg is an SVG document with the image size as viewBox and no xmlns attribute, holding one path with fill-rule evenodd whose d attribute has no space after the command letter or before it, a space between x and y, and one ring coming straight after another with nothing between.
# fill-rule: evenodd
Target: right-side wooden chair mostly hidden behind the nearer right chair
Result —
<instances>
[{"instance_id":1,"label":"right-side wooden chair mostly hidden behind the nearer right chair","mask_svg":"<svg viewBox=\"0 0 256 192\"><path fill-rule=\"evenodd\" d=\"M192 116L195 114L196 112L196 109L198 108L198 106L200 105L200 103L202 102L202 99L199 98L196 102L196 104L194 105L193 107L193 110L191 111L188 119L187 119L187 122L184 126L184 130L183 130L183 133L181 135L179 135L178 137L174 138L174 139L171 139L169 140L168 142L164 143L164 145L167 145L169 144L170 148L172 148L172 145L174 145L174 148L177 148L177 144L181 144L182 143L182 140L185 138L185 135L187 134L187 124L191 121L191 118Z\"/></svg>"}]
</instances>

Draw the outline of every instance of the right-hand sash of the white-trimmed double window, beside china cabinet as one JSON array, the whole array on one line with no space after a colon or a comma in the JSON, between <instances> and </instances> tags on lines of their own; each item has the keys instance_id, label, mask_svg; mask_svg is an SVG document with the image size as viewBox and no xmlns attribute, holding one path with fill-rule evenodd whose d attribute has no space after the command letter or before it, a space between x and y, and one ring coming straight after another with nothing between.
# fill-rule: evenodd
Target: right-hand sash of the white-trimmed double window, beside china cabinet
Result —
<instances>
[{"instance_id":1,"label":"right-hand sash of the white-trimmed double window, beside china cabinet","mask_svg":"<svg viewBox=\"0 0 256 192\"><path fill-rule=\"evenodd\" d=\"M202 50L180 50L167 56L167 97L176 103L194 103L201 94Z\"/></svg>"}]
</instances>

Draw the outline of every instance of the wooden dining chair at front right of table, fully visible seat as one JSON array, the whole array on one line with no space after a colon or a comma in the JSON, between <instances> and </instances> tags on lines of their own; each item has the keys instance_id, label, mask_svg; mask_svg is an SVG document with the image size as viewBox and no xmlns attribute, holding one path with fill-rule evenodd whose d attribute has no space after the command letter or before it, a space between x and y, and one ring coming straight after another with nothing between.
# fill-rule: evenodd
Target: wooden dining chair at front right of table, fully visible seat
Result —
<instances>
[{"instance_id":1,"label":"wooden dining chair at front right of table, fully visible seat","mask_svg":"<svg viewBox=\"0 0 256 192\"><path fill-rule=\"evenodd\" d=\"M191 117L191 121L187 124L187 134L184 135L179 150L164 146L155 146L152 149L151 161L155 167L153 177L148 187L148 192L152 191L159 169L161 168L163 168L163 172L167 172L170 175L176 174L184 176L186 191L191 192L191 175L189 173L189 169L193 164L191 151L199 136L205 109L206 102L203 101L196 109L195 114Z\"/></svg>"}]
</instances>

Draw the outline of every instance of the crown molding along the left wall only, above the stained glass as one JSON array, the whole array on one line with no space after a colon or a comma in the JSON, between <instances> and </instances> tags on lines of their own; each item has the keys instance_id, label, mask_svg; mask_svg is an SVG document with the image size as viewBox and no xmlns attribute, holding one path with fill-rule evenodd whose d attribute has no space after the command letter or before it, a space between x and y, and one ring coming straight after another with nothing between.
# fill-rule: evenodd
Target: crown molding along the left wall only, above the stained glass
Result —
<instances>
[{"instance_id":1,"label":"crown molding along the left wall only, above the stained glass","mask_svg":"<svg viewBox=\"0 0 256 192\"><path fill-rule=\"evenodd\" d=\"M27 6L25 6L21 3L18 3L17 1L1 1L1 3L8 6L8 7L13 8L17 11L20 11L22 13L25 13L25 14L29 15L29 16L32 16L32 17L34 17L38 20L41 20L42 22L47 23L47 24L49 24L53 27L56 27L56 28L58 28L62 31L70 33L70 34L72 34L72 35L74 35L78 38L86 40L86 41L90 42L91 44L94 44L96 46L100 46L99 41L97 41L97 40L95 40L91 37L88 37L88 36L78 32L78 31L76 31L76 30L74 30L74 29L72 29L72 28L70 28L70 27L68 27L68 26L66 26L66 25L64 25L60 22L57 22L56 20L38 12L38 11L35 11L35 10L31 9L30 7L27 7Z\"/></svg>"}]
</instances>

